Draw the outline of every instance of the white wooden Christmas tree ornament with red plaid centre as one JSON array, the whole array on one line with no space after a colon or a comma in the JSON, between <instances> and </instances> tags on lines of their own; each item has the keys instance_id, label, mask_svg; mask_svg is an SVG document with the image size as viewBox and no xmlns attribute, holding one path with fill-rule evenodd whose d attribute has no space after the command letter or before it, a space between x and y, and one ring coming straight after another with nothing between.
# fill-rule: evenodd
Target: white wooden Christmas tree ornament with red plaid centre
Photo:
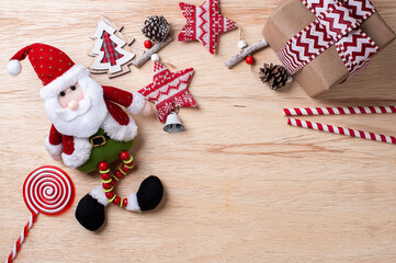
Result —
<instances>
[{"instance_id":1,"label":"white wooden Christmas tree ornament with red plaid centre","mask_svg":"<svg viewBox=\"0 0 396 263\"><path fill-rule=\"evenodd\" d=\"M114 78L131 71L129 65L135 54L131 45L135 41L121 33L123 26L111 22L101 15L92 39L95 42L89 52L89 56L97 57L89 67L91 73L109 73Z\"/></svg>"}]
</instances>

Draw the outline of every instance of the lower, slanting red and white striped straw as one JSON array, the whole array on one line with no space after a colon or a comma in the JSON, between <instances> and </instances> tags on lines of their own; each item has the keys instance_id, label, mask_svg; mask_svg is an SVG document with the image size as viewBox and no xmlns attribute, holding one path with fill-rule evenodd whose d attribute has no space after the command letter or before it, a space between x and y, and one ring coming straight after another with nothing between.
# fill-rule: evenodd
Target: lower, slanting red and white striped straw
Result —
<instances>
[{"instance_id":1,"label":"lower, slanting red and white striped straw","mask_svg":"<svg viewBox=\"0 0 396 263\"><path fill-rule=\"evenodd\" d=\"M387 142L387 144L396 144L396 137L393 137L393 136L374 134L374 133L363 132L363 130L358 130L358 129L343 128L343 127L338 127L338 126L333 126L333 125L314 123L314 122L308 122L308 121L298 119L298 118L288 118L287 124L291 126L323 130L323 132L327 132L327 133L331 133L331 134L340 134L340 135L347 135L347 136L362 138L362 139L377 140L377 141Z\"/></svg>"}]
</instances>

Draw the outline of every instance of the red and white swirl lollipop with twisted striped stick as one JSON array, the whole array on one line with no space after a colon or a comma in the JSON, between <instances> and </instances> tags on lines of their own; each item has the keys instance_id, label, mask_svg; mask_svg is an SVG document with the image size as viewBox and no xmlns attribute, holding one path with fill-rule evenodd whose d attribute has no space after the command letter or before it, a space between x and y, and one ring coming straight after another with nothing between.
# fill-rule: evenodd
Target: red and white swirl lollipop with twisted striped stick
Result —
<instances>
[{"instance_id":1,"label":"red and white swirl lollipop with twisted striped stick","mask_svg":"<svg viewBox=\"0 0 396 263\"><path fill-rule=\"evenodd\" d=\"M31 172L23 184L23 198L31 210L31 218L18 238L5 263L12 262L29 230L37 220L38 213L48 216L67 210L73 201L75 186L67 173L59 168L45 165Z\"/></svg>"}]
</instances>

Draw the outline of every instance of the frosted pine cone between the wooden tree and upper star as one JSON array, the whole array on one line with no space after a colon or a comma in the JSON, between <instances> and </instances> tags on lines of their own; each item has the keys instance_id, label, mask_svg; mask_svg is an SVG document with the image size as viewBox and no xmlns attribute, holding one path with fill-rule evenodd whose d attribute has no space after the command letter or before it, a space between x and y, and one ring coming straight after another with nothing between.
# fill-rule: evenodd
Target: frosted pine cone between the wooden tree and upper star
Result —
<instances>
[{"instance_id":1,"label":"frosted pine cone between the wooden tree and upper star","mask_svg":"<svg viewBox=\"0 0 396 263\"><path fill-rule=\"evenodd\" d=\"M162 15L152 15L147 16L142 33L152 42L161 42L168 36L169 27L168 21Z\"/></svg>"}]
</instances>

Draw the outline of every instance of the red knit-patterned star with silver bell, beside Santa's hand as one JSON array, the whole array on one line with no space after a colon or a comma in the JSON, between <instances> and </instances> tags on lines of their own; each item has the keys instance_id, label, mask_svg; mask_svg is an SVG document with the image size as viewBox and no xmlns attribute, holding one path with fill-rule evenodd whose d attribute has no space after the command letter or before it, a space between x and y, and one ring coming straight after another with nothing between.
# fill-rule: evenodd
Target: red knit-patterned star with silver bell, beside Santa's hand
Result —
<instances>
[{"instance_id":1,"label":"red knit-patterned star with silver bell, beside Santa's hand","mask_svg":"<svg viewBox=\"0 0 396 263\"><path fill-rule=\"evenodd\" d=\"M196 103L186 90L193 68L170 72L162 64L154 64L152 82L139 90L148 101L156 103L158 118L161 123L176 107L195 107Z\"/></svg>"}]
</instances>

